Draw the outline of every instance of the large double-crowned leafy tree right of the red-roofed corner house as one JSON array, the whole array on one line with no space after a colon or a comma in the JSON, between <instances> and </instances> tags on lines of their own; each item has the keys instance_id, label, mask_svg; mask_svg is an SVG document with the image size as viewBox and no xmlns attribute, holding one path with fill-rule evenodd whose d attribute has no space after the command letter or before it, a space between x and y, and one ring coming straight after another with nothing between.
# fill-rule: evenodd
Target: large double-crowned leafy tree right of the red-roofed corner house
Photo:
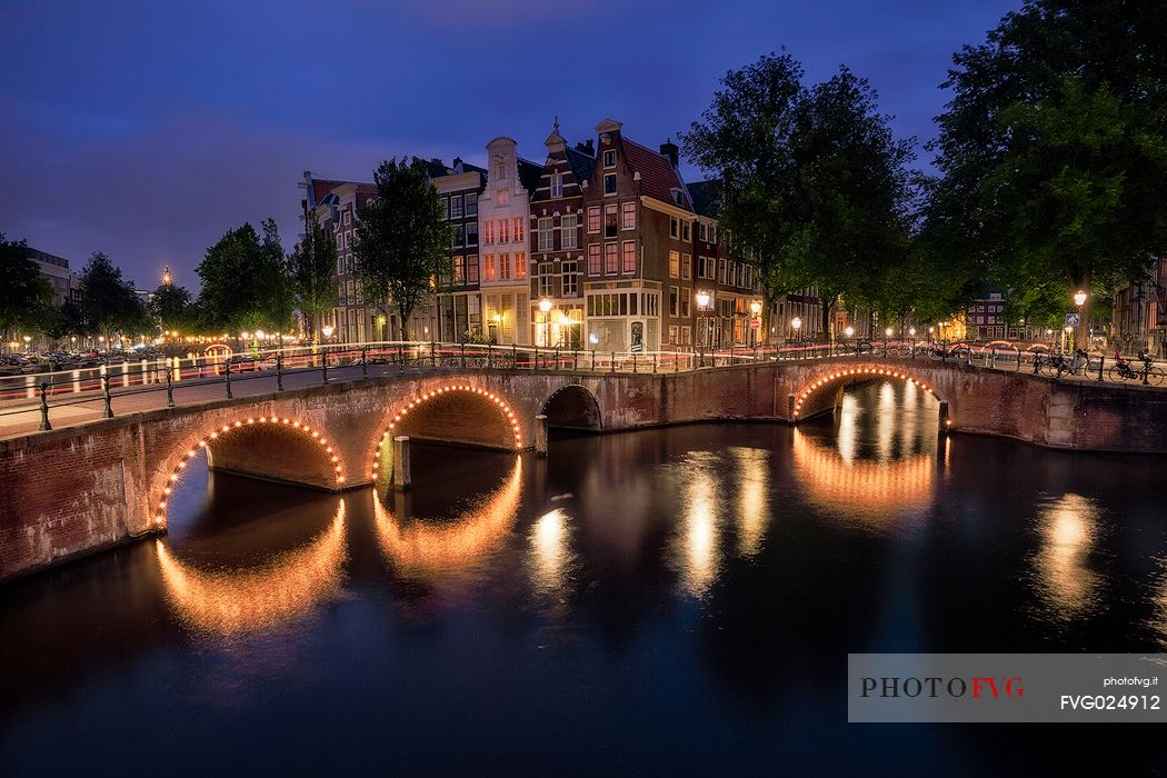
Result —
<instances>
[{"instance_id":1,"label":"large double-crowned leafy tree right of the red-roofed corner house","mask_svg":"<svg viewBox=\"0 0 1167 778\"><path fill-rule=\"evenodd\" d=\"M727 73L682 136L719 180L726 248L756 265L764 311L778 295L818 286L826 331L840 296L911 307L896 281L908 258L914 141L894 138L869 84L846 68L809 89L802 76L789 54Z\"/></svg>"}]
</instances>

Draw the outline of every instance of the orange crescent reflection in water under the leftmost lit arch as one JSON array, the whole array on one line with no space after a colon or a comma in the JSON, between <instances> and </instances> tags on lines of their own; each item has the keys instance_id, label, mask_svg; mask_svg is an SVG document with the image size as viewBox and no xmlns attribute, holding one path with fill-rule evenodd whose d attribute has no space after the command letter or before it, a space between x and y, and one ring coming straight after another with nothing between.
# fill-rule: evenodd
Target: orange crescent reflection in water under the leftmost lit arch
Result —
<instances>
[{"instance_id":1,"label":"orange crescent reflection in water under the leftmost lit arch","mask_svg":"<svg viewBox=\"0 0 1167 778\"><path fill-rule=\"evenodd\" d=\"M340 590L344 561L344 500L327 530L306 547L245 570L200 570L158 552L167 601L183 622L204 632L239 635L271 629L308 612Z\"/></svg>"}]
</instances>

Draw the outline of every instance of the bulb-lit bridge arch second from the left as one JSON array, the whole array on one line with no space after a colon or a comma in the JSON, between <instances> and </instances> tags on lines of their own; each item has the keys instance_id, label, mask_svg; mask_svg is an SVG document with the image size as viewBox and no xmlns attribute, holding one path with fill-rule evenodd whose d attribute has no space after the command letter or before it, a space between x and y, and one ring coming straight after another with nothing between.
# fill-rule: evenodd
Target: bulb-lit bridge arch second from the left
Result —
<instances>
[{"instance_id":1,"label":"bulb-lit bridge arch second from the left","mask_svg":"<svg viewBox=\"0 0 1167 778\"><path fill-rule=\"evenodd\" d=\"M483 408L492 413L483 416ZM428 388L412 400L401 401L390 413L369 454L366 472L373 481L394 435L503 450L523 448L522 426L506 398L473 384Z\"/></svg>"}]
</instances>

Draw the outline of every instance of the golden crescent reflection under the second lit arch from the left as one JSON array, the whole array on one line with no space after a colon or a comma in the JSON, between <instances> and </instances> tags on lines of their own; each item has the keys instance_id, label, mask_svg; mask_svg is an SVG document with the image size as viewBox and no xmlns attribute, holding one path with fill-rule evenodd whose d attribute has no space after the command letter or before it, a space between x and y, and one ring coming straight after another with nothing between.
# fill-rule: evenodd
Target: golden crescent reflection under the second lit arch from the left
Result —
<instances>
[{"instance_id":1,"label":"golden crescent reflection under the second lit arch from the left","mask_svg":"<svg viewBox=\"0 0 1167 778\"><path fill-rule=\"evenodd\" d=\"M417 579L466 569L494 551L510 532L523 485L522 460L490 496L453 521L394 517L376 496L377 539L393 568Z\"/></svg>"}]
</instances>

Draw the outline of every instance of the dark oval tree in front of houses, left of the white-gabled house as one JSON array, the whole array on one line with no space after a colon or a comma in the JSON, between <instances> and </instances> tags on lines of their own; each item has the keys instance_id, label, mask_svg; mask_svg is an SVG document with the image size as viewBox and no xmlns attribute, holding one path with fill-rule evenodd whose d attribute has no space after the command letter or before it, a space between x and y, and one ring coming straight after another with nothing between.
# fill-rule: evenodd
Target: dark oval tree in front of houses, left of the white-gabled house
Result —
<instances>
[{"instance_id":1,"label":"dark oval tree in front of houses, left of the white-gabled house","mask_svg":"<svg viewBox=\"0 0 1167 778\"><path fill-rule=\"evenodd\" d=\"M357 271L365 300L386 315L397 306L401 338L408 339L413 310L435 292L438 279L454 274L454 227L421 160L386 160L373 181L377 196L357 212Z\"/></svg>"}]
</instances>

